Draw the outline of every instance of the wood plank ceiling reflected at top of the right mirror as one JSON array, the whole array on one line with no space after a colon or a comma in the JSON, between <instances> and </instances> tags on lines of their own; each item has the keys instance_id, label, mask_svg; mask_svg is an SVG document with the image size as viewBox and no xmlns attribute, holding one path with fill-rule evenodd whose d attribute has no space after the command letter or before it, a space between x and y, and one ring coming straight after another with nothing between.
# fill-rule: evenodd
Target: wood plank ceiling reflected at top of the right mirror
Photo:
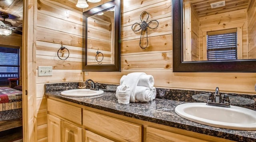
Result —
<instances>
[{"instance_id":1,"label":"wood plank ceiling reflected at top of the right mirror","mask_svg":"<svg viewBox=\"0 0 256 142\"><path fill-rule=\"evenodd\" d=\"M199 17L230 12L248 8L251 0L225 0L226 6L211 8L210 4L223 0L183 0L183 3L191 3Z\"/></svg>"}]
</instances>

